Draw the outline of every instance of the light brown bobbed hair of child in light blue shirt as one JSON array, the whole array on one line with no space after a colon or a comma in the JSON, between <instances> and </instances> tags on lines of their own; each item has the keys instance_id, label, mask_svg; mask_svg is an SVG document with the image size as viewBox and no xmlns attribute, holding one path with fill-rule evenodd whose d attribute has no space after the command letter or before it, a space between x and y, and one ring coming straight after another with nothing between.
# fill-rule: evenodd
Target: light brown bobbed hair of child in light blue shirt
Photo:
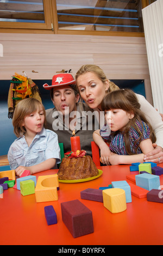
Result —
<instances>
[{"instance_id":1,"label":"light brown bobbed hair of child in light blue shirt","mask_svg":"<svg viewBox=\"0 0 163 256\"><path fill-rule=\"evenodd\" d=\"M26 133L26 129L22 126L24 118L35 112L37 108L41 106L43 114L45 115L44 126L46 125L46 112L45 108L39 100L34 98L28 98L21 100L15 107L14 116L12 119L12 125L14 126L14 133L16 137L22 137Z\"/></svg>"}]
</instances>

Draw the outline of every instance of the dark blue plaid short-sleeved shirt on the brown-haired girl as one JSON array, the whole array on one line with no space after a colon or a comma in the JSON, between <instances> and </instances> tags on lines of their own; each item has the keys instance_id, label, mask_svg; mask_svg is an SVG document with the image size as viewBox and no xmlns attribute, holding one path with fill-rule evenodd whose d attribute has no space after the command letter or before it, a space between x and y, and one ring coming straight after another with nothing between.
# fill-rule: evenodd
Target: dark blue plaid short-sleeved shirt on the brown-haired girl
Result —
<instances>
[{"instance_id":1,"label":"dark blue plaid short-sleeved shirt on the brown-haired girl","mask_svg":"<svg viewBox=\"0 0 163 256\"><path fill-rule=\"evenodd\" d=\"M145 139L150 138L150 129L146 123L142 121L143 129L139 121L136 120L135 125L137 129L142 133L141 141L144 141ZM106 124L102 127L100 130L100 135L104 139L105 142L110 143L110 150L118 155L128 155L126 150L126 145L124 143L124 133L119 131L116 132L110 132L109 126ZM139 133L134 129L133 126L130 127L129 130L129 141L130 141L130 149L133 152L133 154L141 154L142 151L140 147L137 148L137 153L135 152L136 145L134 145L135 141L139 139Z\"/></svg>"}]
</instances>

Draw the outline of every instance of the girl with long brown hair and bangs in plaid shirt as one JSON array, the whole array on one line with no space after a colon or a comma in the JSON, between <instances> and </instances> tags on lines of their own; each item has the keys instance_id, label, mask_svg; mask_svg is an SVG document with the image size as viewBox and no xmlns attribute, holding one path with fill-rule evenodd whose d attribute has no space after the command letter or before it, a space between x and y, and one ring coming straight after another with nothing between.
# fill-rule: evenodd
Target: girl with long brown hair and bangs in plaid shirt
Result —
<instances>
[{"instance_id":1,"label":"girl with long brown hair and bangs in plaid shirt","mask_svg":"<svg viewBox=\"0 0 163 256\"><path fill-rule=\"evenodd\" d=\"M129 89L115 90L104 97L101 108L105 113L107 125L95 131L93 139L101 149L102 162L142 163L143 154L153 150L155 134L140 111L140 103L135 93ZM103 148L102 139L110 143L108 148Z\"/></svg>"}]
</instances>

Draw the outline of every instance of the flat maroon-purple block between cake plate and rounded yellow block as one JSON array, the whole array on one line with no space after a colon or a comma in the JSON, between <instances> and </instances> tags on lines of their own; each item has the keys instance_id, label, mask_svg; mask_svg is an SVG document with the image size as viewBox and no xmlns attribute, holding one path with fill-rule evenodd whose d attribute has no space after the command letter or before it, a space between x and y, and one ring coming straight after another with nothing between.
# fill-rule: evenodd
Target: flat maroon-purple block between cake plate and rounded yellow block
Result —
<instances>
[{"instance_id":1,"label":"flat maroon-purple block between cake plate and rounded yellow block","mask_svg":"<svg viewBox=\"0 0 163 256\"><path fill-rule=\"evenodd\" d=\"M80 197L82 199L103 203L103 192L102 190L97 190L96 188L87 188L86 190L81 191Z\"/></svg>"}]
</instances>

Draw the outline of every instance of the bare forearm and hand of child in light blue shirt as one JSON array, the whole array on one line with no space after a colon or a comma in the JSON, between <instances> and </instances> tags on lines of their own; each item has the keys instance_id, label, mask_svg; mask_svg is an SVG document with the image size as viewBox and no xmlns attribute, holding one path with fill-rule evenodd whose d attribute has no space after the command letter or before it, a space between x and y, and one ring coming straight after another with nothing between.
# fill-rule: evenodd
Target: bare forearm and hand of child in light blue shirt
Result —
<instances>
[{"instance_id":1,"label":"bare forearm and hand of child in light blue shirt","mask_svg":"<svg viewBox=\"0 0 163 256\"><path fill-rule=\"evenodd\" d=\"M24 170L30 170L30 174L35 174L39 172L43 172L43 170L52 169L55 166L56 159L47 159L42 163L38 163L34 166L26 167L26 166L18 166L15 169L15 173L17 176L21 176Z\"/></svg>"}]
</instances>

